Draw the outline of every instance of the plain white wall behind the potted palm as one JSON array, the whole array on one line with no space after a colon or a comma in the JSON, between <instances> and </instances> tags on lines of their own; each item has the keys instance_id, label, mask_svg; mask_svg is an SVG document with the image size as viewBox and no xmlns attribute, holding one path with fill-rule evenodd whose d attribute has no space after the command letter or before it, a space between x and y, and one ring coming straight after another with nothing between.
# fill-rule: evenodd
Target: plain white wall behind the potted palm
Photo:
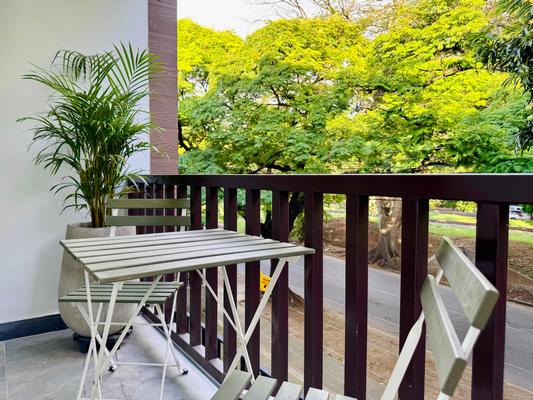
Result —
<instances>
[{"instance_id":1,"label":"plain white wall behind the potted palm","mask_svg":"<svg viewBox=\"0 0 533 400\"><path fill-rule=\"evenodd\" d=\"M16 119L46 110L48 93L20 77L59 49L94 53L112 43L148 46L148 0L0 0L0 323L57 312L68 222L48 189L59 178L33 165L32 133ZM134 160L148 170L149 155Z\"/></svg>"}]
</instances>

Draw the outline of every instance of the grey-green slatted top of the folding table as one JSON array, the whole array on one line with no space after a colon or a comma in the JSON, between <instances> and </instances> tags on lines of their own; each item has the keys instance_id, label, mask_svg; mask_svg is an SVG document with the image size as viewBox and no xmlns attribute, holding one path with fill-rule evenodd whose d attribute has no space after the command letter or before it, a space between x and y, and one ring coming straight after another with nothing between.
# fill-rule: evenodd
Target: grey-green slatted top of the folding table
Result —
<instances>
[{"instance_id":1,"label":"grey-green slatted top of the folding table","mask_svg":"<svg viewBox=\"0 0 533 400\"><path fill-rule=\"evenodd\" d=\"M307 247L222 229L60 243L100 283L314 253Z\"/></svg>"}]
</instances>

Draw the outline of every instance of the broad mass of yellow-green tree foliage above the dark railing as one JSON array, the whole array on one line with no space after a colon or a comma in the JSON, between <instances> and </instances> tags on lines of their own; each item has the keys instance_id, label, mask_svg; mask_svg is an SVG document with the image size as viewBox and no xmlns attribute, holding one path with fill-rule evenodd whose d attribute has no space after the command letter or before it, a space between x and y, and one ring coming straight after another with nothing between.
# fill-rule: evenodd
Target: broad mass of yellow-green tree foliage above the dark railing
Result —
<instances>
[{"instance_id":1,"label":"broad mass of yellow-green tree foliage above the dark railing","mask_svg":"<svg viewBox=\"0 0 533 400\"><path fill-rule=\"evenodd\" d=\"M277 20L244 41L194 28L205 33L188 48L215 55L190 61L208 78L180 103L181 171L477 171L513 159L529 100L476 57L469 38L494 18L485 5L390 2L376 35L365 15Z\"/></svg>"}]
</instances>

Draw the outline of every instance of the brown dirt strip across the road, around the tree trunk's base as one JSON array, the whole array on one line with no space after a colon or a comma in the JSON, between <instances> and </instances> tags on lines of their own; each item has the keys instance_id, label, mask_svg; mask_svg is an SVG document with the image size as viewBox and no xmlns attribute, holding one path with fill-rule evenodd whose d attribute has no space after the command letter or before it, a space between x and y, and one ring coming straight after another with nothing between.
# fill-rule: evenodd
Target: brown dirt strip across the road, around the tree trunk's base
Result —
<instances>
[{"instance_id":1,"label":"brown dirt strip across the road, around the tree trunk's base","mask_svg":"<svg viewBox=\"0 0 533 400\"><path fill-rule=\"evenodd\" d=\"M377 241L378 229L375 223L369 223L368 245L372 248ZM333 257L345 257L346 222L333 219L324 225L324 253ZM434 254L441 237L429 236L429 254ZM474 254L475 242L472 238L454 238L454 242L468 253ZM509 274L507 277L507 296L533 305L533 245L521 242L509 242ZM398 272L396 268L380 267Z\"/></svg>"}]
</instances>

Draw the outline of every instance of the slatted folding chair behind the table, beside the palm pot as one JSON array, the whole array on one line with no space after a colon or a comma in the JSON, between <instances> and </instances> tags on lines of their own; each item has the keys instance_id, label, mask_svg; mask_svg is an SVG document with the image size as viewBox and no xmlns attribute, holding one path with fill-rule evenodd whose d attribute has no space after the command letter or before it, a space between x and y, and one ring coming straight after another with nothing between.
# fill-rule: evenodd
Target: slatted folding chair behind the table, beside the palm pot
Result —
<instances>
[{"instance_id":1,"label":"slatted folding chair behind the table, beside the palm pot","mask_svg":"<svg viewBox=\"0 0 533 400\"><path fill-rule=\"evenodd\" d=\"M111 226L110 236L115 236L115 231L117 226L179 226L180 229L183 229L186 226L190 225L190 217L186 215L186 210L190 208L190 202L188 199L113 199L108 203L108 208L111 209L112 215L106 217L106 225ZM183 215L170 216L170 215L139 215L139 216L130 216L130 215L118 215L118 209L181 209ZM117 245L116 252L120 253L120 245ZM128 249L131 251L131 249ZM84 254L85 257L91 257L93 262L105 262L107 257L102 256L99 250L92 250ZM87 286L90 285L90 290L87 291ZM138 312L140 311L140 304L146 303L147 306L153 306L154 314L159 319L157 323L142 323L144 325L156 326L163 330L166 339L165 353L164 353L164 362L163 363L142 363L142 362L124 362L117 361L114 359L116 356L116 350L110 352L105 349L105 352L109 359L111 360L111 365L109 369L111 371L116 370L117 365L126 364L126 365L141 365L147 367L162 367L163 373L161 377L161 388L159 398L163 398L164 384L167 368L175 367L178 369L180 375L186 374L188 371L181 367L178 357L176 355L174 345L171 339L171 330L174 323L174 315L176 312L176 296L177 291L182 286L182 283L179 281L179 276L177 281L174 282L158 282L153 290L153 292L147 297L148 289L151 287L151 282L128 282L122 286L122 289L116 294L116 303L127 303L137 305L136 311L131 316L130 322L133 322L137 317ZM85 286L77 289L71 293L66 294L65 296L59 299L60 302L71 303L76 306L85 321L91 330L94 333L95 340L91 340L89 346L89 351L85 359L85 365L83 370L83 376L80 383L77 399L82 399L83 388L85 385L85 379L88 372L88 367L90 364L91 358L95 360L97 358L97 345L101 346L103 342L103 337L107 337L107 334L102 334L98 332L98 326L104 325L104 322L93 323L93 321L100 321L100 316L102 314L102 308L104 304L109 304L111 301L113 285L111 284L96 284L88 282L86 275ZM92 304L97 304L96 316L93 319L93 310L87 307L87 293L91 293L91 302ZM147 298L146 298L147 297ZM145 299L146 298L146 299ZM146 301L144 301L146 300ZM167 301L172 301L171 314L169 323L167 324L166 315L165 315L165 303ZM112 323L113 324L113 323ZM124 325L124 323L117 323ZM139 323L136 323L139 325ZM129 324L128 324L129 325ZM119 341L123 339L124 332L121 334ZM96 343L98 342L98 344ZM171 353L174 360L174 364L168 363L168 356ZM95 364L95 368L98 368ZM100 387L101 385L99 385ZM100 394L101 397L101 394Z\"/></svg>"}]
</instances>

